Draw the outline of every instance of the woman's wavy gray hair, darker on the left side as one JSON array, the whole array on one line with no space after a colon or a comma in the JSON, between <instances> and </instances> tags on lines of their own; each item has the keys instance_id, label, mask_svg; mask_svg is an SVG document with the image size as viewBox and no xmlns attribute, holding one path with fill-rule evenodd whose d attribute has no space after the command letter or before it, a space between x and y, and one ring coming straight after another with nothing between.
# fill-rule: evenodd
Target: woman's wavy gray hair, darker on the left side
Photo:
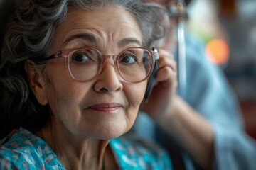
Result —
<instances>
[{"instance_id":1,"label":"woman's wavy gray hair, darker on the left side","mask_svg":"<svg viewBox=\"0 0 256 170\"><path fill-rule=\"evenodd\" d=\"M164 27L159 24L167 18L164 9L139 0L25 1L11 16L4 29L0 64L1 125L4 125L0 129L4 130L3 135L19 126L41 128L48 120L50 109L48 106L41 106L31 93L24 61L32 57L46 57L55 30L65 20L70 6L85 10L122 6L137 19L144 47L151 47L155 40L164 37ZM36 64L42 70L46 67L46 62Z\"/></svg>"}]
</instances>

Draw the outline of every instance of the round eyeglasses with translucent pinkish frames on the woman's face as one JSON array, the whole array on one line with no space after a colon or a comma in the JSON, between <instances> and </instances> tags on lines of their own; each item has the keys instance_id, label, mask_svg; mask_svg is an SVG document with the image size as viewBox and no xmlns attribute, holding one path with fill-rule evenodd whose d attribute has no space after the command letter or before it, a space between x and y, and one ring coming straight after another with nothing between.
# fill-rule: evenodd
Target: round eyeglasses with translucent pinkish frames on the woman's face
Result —
<instances>
[{"instance_id":1,"label":"round eyeglasses with translucent pinkish frames on the woman's face","mask_svg":"<svg viewBox=\"0 0 256 170\"><path fill-rule=\"evenodd\" d=\"M129 47L119 55L103 55L92 47L60 50L49 57L34 60L51 60L64 57L70 76L77 81L90 81L97 77L107 59L114 60L115 67L125 81L139 83L151 74L156 60L159 59L157 50L144 47Z\"/></svg>"}]
</instances>

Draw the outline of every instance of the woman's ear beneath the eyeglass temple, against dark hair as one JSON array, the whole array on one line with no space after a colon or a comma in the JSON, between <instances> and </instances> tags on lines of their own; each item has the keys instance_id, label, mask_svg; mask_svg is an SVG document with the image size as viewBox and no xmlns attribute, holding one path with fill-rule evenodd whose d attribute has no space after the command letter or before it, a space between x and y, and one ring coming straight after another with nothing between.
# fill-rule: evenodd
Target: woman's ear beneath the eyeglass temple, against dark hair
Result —
<instances>
[{"instance_id":1,"label":"woman's ear beneath the eyeglass temple, against dark hair","mask_svg":"<svg viewBox=\"0 0 256 170\"><path fill-rule=\"evenodd\" d=\"M46 82L44 81L42 73L31 60L26 60L25 70L28 77L28 83L34 96L41 105L46 105L48 103L48 98L46 96Z\"/></svg>"}]
</instances>

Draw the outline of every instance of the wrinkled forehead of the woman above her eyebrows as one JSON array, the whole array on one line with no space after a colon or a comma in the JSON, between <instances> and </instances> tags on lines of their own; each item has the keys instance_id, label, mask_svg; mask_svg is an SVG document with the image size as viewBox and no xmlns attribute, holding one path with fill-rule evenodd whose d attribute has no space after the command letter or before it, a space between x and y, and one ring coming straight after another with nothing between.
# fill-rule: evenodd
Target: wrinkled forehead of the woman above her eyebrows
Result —
<instances>
[{"instance_id":1,"label":"wrinkled forehead of the woman above her eyebrows","mask_svg":"<svg viewBox=\"0 0 256 170\"><path fill-rule=\"evenodd\" d=\"M58 27L55 37L64 43L71 35L81 33L90 33L99 42L117 42L127 36L142 42L136 18L119 6L104 6L94 11L69 8L68 16Z\"/></svg>"}]
</instances>

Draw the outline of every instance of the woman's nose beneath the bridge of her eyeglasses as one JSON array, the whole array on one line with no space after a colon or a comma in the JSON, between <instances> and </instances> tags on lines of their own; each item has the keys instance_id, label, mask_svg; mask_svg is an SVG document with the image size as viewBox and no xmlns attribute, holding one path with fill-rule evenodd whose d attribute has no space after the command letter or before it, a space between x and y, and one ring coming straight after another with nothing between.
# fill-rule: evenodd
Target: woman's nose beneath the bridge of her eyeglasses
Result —
<instances>
[{"instance_id":1,"label":"woman's nose beneath the bridge of her eyeglasses","mask_svg":"<svg viewBox=\"0 0 256 170\"><path fill-rule=\"evenodd\" d=\"M109 92L121 91L123 88L122 78L115 68L113 60L107 60L102 68L102 71L96 78L95 91Z\"/></svg>"}]
</instances>

